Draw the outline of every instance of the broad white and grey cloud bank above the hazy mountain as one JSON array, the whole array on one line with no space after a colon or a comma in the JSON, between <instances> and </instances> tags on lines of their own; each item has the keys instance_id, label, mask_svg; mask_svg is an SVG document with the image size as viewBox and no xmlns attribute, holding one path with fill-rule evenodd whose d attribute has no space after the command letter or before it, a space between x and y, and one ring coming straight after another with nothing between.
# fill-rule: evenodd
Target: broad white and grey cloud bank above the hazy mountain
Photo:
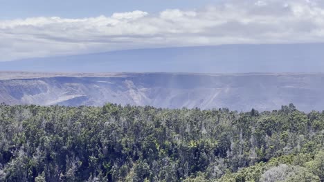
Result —
<instances>
[{"instance_id":1,"label":"broad white and grey cloud bank above the hazy mountain","mask_svg":"<svg viewBox=\"0 0 324 182\"><path fill-rule=\"evenodd\" d=\"M226 1L201 10L136 10L111 17L0 21L0 61L129 48L324 41L324 6L312 0Z\"/></svg>"}]
</instances>

